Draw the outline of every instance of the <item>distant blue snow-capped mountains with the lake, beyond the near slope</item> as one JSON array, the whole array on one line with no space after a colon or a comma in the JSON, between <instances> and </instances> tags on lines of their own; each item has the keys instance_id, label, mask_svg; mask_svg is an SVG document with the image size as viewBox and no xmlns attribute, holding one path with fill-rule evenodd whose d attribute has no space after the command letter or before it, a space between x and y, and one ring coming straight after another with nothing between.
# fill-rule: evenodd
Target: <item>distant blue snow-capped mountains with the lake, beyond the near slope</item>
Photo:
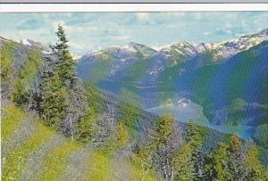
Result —
<instances>
[{"instance_id":1,"label":"distant blue snow-capped mountains with the lake, beyond the near slope","mask_svg":"<svg viewBox=\"0 0 268 181\"><path fill-rule=\"evenodd\" d=\"M80 78L156 114L254 137L268 118L268 29L219 43L131 42L89 52Z\"/></svg>"}]
</instances>

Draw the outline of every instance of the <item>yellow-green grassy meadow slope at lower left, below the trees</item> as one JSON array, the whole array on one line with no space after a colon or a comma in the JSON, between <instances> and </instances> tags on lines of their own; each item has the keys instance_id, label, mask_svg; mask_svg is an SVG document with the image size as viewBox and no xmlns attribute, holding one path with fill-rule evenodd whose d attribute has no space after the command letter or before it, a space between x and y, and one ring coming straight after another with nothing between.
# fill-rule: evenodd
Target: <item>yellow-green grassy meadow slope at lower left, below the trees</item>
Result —
<instances>
[{"instance_id":1,"label":"yellow-green grassy meadow slope at lower left, below the trees","mask_svg":"<svg viewBox=\"0 0 268 181\"><path fill-rule=\"evenodd\" d=\"M117 160L111 152L72 142L13 103L2 109L3 180L138 180L140 170L127 157Z\"/></svg>"}]
</instances>

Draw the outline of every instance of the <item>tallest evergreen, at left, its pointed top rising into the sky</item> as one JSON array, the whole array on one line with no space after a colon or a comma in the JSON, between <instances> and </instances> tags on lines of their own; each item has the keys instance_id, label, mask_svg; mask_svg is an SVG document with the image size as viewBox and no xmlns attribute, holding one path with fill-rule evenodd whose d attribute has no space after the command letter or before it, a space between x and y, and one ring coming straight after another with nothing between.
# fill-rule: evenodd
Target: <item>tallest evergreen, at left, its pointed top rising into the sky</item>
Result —
<instances>
[{"instance_id":1,"label":"tallest evergreen, at left, its pointed top rising into the sky","mask_svg":"<svg viewBox=\"0 0 268 181\"><path fill-rule=\"evenodd\" d=\"M63 26L58 25L56 35L58 42L56 45L50 45L54 53L50 59L55 57L55 60L48 60L51 68L43 75L45 82L42 85L41 114L47 125L62 129L66 136L73 137L74 61L68 50Z\"/></svg>"}]
</instances>

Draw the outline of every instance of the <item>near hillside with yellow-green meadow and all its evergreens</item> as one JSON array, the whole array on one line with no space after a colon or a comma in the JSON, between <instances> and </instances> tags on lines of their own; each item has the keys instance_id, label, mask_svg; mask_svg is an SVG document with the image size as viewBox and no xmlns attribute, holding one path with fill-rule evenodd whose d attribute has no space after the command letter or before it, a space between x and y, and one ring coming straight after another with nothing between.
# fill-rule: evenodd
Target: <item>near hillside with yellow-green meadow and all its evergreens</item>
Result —
<instances>
[{"instance_id":1,"label":"near hillside with yellow-green meadow and all its evergreens","mask_svg":"<svg viewBox=\"0 0 268 181\"><path fill-rule=\"evenodd\" d=\"M3 180L268 179L265 150L253 141L84 84L61 25L56 35L50 53L1 39ZM136 48L148 61L143 54L153 50Z\"/></svg>"}]
</instances>

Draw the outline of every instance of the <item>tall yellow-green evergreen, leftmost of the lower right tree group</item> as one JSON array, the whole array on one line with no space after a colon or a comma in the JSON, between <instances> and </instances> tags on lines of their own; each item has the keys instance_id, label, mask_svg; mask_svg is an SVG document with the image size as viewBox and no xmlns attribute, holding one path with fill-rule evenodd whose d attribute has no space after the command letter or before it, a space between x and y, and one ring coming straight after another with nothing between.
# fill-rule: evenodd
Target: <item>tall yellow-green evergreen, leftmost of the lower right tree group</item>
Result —
<instances>
[{"instance_id":1,"label":"tall yellow-green evergreen, leftmost of the lower right tree group","mask_svg":"<svg viewBox=\"0 0 268 181\"><path fill-rule=\"evenodd\" d=\"M175 151L180 144L180 138L174 119L164 114L157 119L153 130L147 136L147 141L138 147L138 162L140 162L144 180L147 173L158 168L166 180L175 177Z\"/></svg>"}]
</instances>

